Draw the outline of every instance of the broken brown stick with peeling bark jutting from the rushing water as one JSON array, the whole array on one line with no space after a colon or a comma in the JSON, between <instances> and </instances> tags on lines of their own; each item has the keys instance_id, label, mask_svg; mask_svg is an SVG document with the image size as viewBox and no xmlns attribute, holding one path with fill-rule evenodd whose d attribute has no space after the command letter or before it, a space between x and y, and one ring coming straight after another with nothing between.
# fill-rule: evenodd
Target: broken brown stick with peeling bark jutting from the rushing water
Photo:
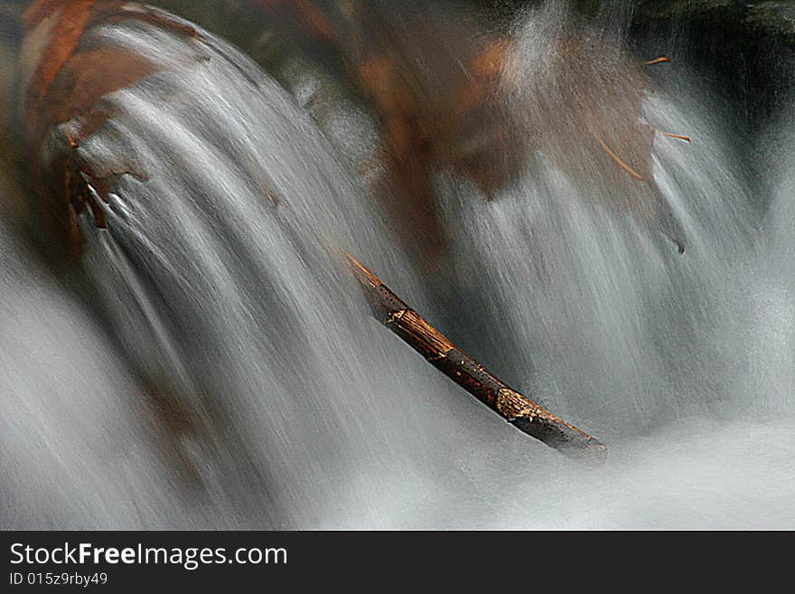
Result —
<instances>
[{"instance_id":1,"label":"broken brown stick with peeling bark jutting from the rushing water","mask_svg":"<svg viewBox=\"0 0 795 594\"><path fill-rule=\"evenodd\" d=\"M353 276L369 299L374 315L428 363L463 387L514 427L570 457L602 463L607 447L585 431L511 390L468 354L455 347L416 311L397 297L358 259L346 253Z\"/></svg>"}]
</instances>

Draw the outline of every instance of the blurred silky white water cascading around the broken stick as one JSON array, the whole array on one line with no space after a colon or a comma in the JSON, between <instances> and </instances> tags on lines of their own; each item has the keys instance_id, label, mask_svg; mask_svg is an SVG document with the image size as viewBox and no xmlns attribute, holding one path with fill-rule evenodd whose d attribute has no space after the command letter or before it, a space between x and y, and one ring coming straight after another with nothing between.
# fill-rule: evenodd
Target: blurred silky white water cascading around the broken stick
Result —
<instances>
[{"instance_id":1,"label":"blurred silky white water cascading around the broken stick","mask_svg":"<svg viewBox=\"0 0 795 594\"><path fill-rule=\"evenodd\" d=\"M561 97L545 52L566 22L519 19L506 84ZM587 35L621 69L617 30ZM656 73L638 117L693 138L652 153L678 255L510 95L538 148L489 202L437 176L450 261L428 272L350 166L374 144L360 109L315 110L323 135L300 107L321 75L295 73L296 105L224 42L153 31L93 33L170 68L111 95L81 146L145 176L119 179L108 231L82 215L78 277L0 228L4 527L795 525L795 110L752 156L687 64ZM606 441L606 466L512 429L372 321L341 249Z\"/></svg>"}]
</instances>

